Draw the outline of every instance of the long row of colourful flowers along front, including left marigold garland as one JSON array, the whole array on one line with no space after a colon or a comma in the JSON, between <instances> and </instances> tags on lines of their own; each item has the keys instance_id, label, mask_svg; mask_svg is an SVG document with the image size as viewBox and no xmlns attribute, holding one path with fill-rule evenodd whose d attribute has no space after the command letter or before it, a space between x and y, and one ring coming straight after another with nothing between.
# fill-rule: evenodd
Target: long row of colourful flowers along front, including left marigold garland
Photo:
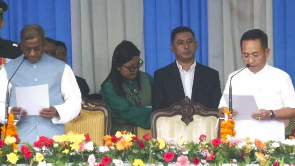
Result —
<instances>
[{"instance_id":1,"label":"long row of colourful flowers along front, including left marigold garland","mask_svg":"<svg viewBox=\"0 0 295 166\"><path fill-rule=\"evenodd\" d=\"M151 138L149 134L137 138L130 132L119 131L115 135L103 137L106 147L98 148L88 134L68 133L45 136L33 144L22 144L19 149L16 127L13 127L13 115L9 115L7 136L0 141L0 163L7 165L28 164L45 166L47 163L63 166L67 163L86 163L89 166L123 166L128 162L133 166L145 166L149 163L164 166L174 162L176 166L221 165L223 163L284 165L295 163L295 139L275 142L220 138L206 143L206 135L201 135L200 142L185 143L183 138L177 142L168 138ZM5 130L5 128L4 128ZM9 131L9 132L8 132ZM3 140L2 140L3 139Z\"/></svg>"}]
</instances>

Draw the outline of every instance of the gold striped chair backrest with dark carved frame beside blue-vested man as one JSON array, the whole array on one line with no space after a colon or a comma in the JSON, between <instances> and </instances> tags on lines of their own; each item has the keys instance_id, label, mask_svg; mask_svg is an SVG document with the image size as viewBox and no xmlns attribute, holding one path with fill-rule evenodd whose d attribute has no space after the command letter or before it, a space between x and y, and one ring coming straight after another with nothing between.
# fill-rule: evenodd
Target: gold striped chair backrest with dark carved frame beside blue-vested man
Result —
<instances>
[{"instance_id":1,"label":"gold striped chair backrest with dark carved frame beside blue-vested man","mask_svg":"<svg viewBox=\"0 0 295 166\"><path fill-rule=\"evenodd\" d=\"M65 124L65 133L89 133L91 140L103 146L103 136L111 133L110 109L105 104L82 100L80 115Z\"/></svg>"}]
</instances>

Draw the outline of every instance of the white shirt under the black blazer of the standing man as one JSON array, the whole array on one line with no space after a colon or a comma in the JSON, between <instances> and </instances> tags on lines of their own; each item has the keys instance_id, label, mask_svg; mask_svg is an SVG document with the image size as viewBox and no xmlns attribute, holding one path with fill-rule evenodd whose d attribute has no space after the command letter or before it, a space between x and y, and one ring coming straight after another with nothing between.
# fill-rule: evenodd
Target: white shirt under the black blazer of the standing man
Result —
<instances>
[{"instance_id":1,"label":"white shirt under the black blazer of the standing man","mask_svg":"<svg viewBox=\"0 0 295 166\"><path fill-rule=\"evenodd\" d=\"M188 71L182 69L182 66L177 62L177 67L180 73L181 82L184 90L184 95L192 98L192 84L194 83L196 61L190 66Z\"/></svg>"}]
</instances>

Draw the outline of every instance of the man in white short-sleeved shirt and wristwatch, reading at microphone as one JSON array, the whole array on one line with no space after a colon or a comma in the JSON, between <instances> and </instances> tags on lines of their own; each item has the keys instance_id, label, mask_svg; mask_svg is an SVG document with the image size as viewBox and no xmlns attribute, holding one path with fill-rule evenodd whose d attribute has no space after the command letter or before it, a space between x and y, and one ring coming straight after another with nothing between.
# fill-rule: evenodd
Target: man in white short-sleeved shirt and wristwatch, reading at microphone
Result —
<instances>
[{"instance_id":1,"label":"man in white short-sleeved shirt and wristwatch, reading at microphone","mask_svg":"<svg viewBox=\"0 0 295 166\"><path fill-rule=\"evenodd\" d=\"M285 71L266 63L269 48L263 31L244 33L241 52L244 64L250 64L250 67L232 78L232 94L253 95L259 110L252 110L252 120L236 120L236 137L282 141L285 139L284 120L295 116L295 92L291 78ZM229 93L230 77L238 71L228 76L223 94ZM226 100L223 95L218 106L221 113L227 107ZM274 115L271 116L270 110ZM233 115L236 114L239 110L233 111Z\"/></svg>"}]
</instances>

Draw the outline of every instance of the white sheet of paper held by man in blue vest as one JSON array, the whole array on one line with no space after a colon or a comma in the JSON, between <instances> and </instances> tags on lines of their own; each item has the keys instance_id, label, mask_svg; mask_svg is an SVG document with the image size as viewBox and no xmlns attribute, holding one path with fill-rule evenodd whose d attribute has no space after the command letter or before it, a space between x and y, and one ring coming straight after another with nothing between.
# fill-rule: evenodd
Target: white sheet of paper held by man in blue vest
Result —
<instances>
[{"instance_id":1,"label":"white sheet of paper held by man in blue vest","mask_svg":"<svg viewBox=\"0 0 295 166\"><path fill-rule=\"evenodd\" d=\"M39 115L42 108L49 108L48 84L16 87L16 106L27 110L28 115Z\"/></svg>"}]
</instances>

